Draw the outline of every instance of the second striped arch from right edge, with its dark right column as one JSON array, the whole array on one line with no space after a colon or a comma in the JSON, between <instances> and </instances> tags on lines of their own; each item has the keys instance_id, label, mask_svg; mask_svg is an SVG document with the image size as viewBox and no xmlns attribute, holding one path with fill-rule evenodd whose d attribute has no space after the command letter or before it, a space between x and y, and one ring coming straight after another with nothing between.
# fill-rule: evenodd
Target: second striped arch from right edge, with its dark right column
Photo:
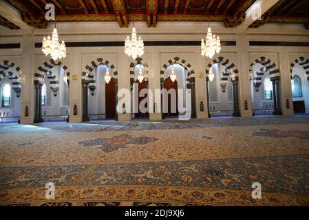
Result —
<instances>
[{"instance_id":1,"label":"second striped arch from right edge, with its dark right column","mask_svg":"<svg viewBox=\"0 0 309 220\"><path fill-rule=\"evenodd\" d=\"M253 67L254 65L256 65L257 63L264 65L266 67L266 71L269 72L269 76L270 76L270 80L273 83L273 101L274 101L274 111L273 111L273 115L282 115L282 111L281 111L281 103L280 103L280 72L279 69L277 68L277 66L275 65L275 63L273 63L270 59L266 58L265 56L261 56L257 59L255 59L255 61L253 61L253 63L251 63L250 65L250 72L253 72ZM257 80L257 83L259 80L259 77L256 75L255 76L256 79L253 80Z\"/></svg>"}]
</instances>

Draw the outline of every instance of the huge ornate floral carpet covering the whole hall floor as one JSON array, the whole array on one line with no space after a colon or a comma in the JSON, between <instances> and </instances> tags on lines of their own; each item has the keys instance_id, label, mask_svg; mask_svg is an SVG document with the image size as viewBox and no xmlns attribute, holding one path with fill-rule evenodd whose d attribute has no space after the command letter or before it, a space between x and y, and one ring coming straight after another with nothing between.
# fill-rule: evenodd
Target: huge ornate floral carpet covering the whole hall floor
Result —
<instances>
[{"instance_id":1,"label":"huge ornate floral carpet covering the whole hall floor","mask_svg":"<svg viewBox=\"0 0 309 220\"><path fill-rule=\"evenodd\" d=\"M1 124L0 205L309 206L309 117Z\"/></svg>"}]
</instances>

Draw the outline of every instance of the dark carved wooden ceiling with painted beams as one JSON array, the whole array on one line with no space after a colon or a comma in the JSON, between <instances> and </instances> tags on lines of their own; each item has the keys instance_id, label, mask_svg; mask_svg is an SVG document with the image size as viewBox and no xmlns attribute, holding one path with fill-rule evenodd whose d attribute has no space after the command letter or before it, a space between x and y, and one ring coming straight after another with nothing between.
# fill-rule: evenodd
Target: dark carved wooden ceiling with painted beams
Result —
<instances>
[{"instance_id":1,"label":"dark carved wooden ceiling with painted beams","mask_svg":"<svg viewBox=\"0 0 309 220\"><path fill-rule=\"evenodd\" d=\"M21 13L21 19L34 28L46 28L45 4L56 7L57 22L117 21L127 27L132 21L145 21L156 27L161 21L217 21L235 28L245 19L246 11L256 0L4 0ZM308 29L309 0L279 0L252 23L301 23ZM5 18L0 25L17 29Z\"/></svg>"}]
</instances>

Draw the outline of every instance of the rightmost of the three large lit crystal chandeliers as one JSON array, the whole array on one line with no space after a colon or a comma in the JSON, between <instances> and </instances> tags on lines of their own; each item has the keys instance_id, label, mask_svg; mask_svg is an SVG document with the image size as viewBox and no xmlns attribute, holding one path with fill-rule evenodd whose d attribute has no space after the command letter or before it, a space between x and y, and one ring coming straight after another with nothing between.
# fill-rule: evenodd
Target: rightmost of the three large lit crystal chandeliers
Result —
<instances>
[{"instance_id":1,"label":"rightmost of the three large lit crystal chandeliers","mask_svg":"<svg viewBox=\"0 0 309 220\"><path fill-rule=\"evenodd\" d=\"M202 39L201 43L201 54L202 56L206 56L209 58L213 58L215 56L215 53L219 54L221 50L221 43L220 43L220 37L215 36L211 32L211 28L208 28L206 40Z\"/></svg>"}]
</instances>

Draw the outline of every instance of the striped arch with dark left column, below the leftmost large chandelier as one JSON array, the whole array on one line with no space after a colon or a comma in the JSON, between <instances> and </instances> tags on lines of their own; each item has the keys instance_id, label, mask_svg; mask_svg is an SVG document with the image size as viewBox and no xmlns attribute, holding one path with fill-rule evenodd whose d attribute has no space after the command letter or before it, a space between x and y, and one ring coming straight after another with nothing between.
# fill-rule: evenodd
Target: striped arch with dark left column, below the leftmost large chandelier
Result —
<instances>
[{"instance_id":1,"label":"striped arch with dark left column, below the leftmost large chandelier","mask_svg":"<svg viewBox=\"0 0 309 220\"><path fill-rule=\"evenodd\" d=\"M44 84L44 78L50 81L50 89L54 92L54 96L57 96L57 91L59 89L58 79L55 75L52 74L50 69L55 66L60 66L65 70L67 75L67 85L70 85L70 72L66 72L67 66L58 61L57 63L54 60L46 61L42 66L39 66L36 72L34 73L34 88L35 88L35 102L34 102L34 123L43 122L42 118L42 86ZM68 120L67 120L68 121Z\"/></svg>"}]
</instances>

